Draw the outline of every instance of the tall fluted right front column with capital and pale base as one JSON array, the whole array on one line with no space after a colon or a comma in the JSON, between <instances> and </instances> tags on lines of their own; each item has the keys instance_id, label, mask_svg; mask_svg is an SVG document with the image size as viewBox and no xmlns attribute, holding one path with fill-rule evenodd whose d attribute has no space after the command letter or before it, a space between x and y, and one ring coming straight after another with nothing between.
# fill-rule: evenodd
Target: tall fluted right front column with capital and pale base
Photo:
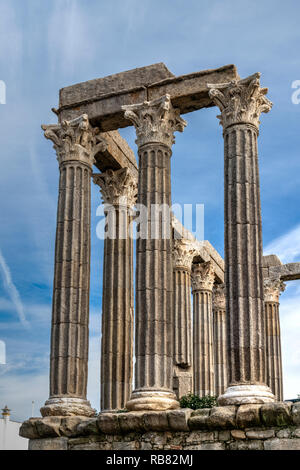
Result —
<instances>
[{"instance_id":1,"label":"tall fluted right front column with capital and pale base","mask_svg":"<svg viewBox=\"0 0 300 470\"><path fill-rule=\"evenodd\" d=\"M274 400L266 385L262 227L257 136L271 109L260 74L208 85L219 106L225 148L225 282L229 387L219 404Z\"/></svg>"}]
</instances>

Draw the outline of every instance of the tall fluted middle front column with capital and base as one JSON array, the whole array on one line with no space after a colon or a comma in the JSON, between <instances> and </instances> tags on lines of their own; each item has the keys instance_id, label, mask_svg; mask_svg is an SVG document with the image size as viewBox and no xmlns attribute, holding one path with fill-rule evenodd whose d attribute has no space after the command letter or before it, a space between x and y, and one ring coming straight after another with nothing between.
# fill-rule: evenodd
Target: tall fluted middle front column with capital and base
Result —
<instances>
[{"instance_id":1,"label":"tall fluted middle front column with capital and base","mask_svg":"<svg viewBox=\"0 0 300 470\"><path fill-rule=\"evenodd\" d=\"M139 154L135 390L130 410L177 408L173 392L171 147L186 125L169 95L124 106ZM162 213L159 213L159 209Z\"/></svg>"}]
</instances>

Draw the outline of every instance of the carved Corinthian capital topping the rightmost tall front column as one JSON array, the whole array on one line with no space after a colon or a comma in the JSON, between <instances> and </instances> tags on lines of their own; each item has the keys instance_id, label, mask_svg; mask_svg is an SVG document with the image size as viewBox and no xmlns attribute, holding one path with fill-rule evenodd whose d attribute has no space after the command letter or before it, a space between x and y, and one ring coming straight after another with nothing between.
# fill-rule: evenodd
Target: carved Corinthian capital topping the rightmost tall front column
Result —
<instances>
[{"instance_id":1,"label":"carved Corinthian capital topping the rightmost tall front column","mask_svg":"<svg viewBox=\"0 0 300 470\"><path fill-rule=\"evenodd\" d=\"M220 108L221 115L217 117L224 129L241 123L258 128L261 113L270 111L272 103L265 96L268 88L260 87L259 78L260 73L256 73L244 80L207 84L210 98Z\"/></svg>"}]
</instances>

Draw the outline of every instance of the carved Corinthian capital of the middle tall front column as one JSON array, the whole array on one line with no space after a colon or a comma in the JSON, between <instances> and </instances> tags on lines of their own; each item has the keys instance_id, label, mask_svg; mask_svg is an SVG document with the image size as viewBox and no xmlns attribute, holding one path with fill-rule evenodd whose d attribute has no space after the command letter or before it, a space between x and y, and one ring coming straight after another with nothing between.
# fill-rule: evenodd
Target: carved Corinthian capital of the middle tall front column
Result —
<instances>
[{"instance_id":1,"label":"carved Corinthian capital of the middle tall front column","mask_svg":"<svg viewBox=\"0 0 300 470\"><path fill-rule=\"evenodd\" d=\"M182 132L186 121L180 117L179 109L174 109L170 95L137 105L122 106L125 118L136 128L138 147L148 143L160 143L172 147L174 132Z\"/></svg>"}]
</instances>

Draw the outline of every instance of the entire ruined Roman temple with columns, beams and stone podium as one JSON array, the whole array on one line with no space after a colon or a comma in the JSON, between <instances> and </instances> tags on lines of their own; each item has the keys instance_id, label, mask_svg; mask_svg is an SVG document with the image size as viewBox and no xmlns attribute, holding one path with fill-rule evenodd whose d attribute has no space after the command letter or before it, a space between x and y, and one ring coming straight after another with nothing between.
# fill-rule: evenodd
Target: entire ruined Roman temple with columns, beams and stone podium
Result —
<instances>
[{"instance_id":1,"label":"entire ruined Roman temple with columns, beams and stone podium","mask_svg":"<svg viewBox=\"0 0 300 470\"><path fill-rule=\"evenodd\" d=\"M283 402L279 315L300 263L262 249L257 139L267 91L259 73L241 79L234 65L176 77L162 63L60 90L58 123L42 126L60 173L50 394L42 418L23 423L30 448L167 449L181 433L182 449L300 449L300 408ZM174 134L183 115L211 106L224 139L224 260L171 212ZM126 126L138 163L118 132ZM91 182L107 226L99 414L87 397ZM188 393L215 395L219 406L180 409ZM212 429L219 434L206 442L201 432Z\"/></svg>"}]
</instances>

